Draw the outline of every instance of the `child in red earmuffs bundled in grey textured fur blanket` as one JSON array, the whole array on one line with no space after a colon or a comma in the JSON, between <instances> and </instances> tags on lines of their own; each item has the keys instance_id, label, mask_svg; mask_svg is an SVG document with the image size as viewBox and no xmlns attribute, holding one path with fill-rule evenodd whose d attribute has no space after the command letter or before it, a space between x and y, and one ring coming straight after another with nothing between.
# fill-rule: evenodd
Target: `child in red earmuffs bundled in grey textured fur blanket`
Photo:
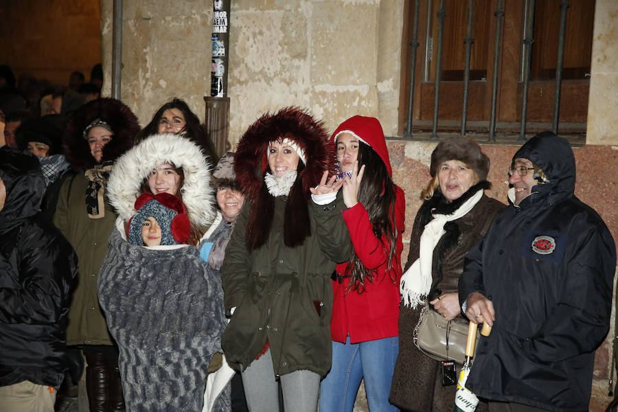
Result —
<instances>
[{"instance_id":1,"label":"child in red earmuffs bundled in grey textured fur blanket","mask_svg":"<svg viewBox=\"0 0 618 412\"><path fill-rule=\"evenodd\" d=\"M227 322L220 277L184 243L189 235L177 196L146 193L126 232L119 218L110 238L99 300L120 349L128 411L202 410L207 367ZM206 410L229 411L229 396Z\"/></svg>"}]
</instances>

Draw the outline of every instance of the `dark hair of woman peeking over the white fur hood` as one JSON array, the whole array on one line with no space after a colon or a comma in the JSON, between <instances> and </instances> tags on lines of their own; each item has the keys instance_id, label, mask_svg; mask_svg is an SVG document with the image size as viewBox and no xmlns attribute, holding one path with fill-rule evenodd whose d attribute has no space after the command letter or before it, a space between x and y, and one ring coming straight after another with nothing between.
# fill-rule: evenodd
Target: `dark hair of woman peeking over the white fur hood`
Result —
<instances>
[{"instance_id":1,"label":"dark hair of woman peeking over the white fur hood","mask_svg":"<svg viewBox=\"0 0 618 412\"><path fill-rule=\"evenodd\" d=\"M185 118L185 127L182 131L185 133L185 136L200 146L202 150L204 150L207 157L209 157L209 159L216 164L218 159L215 156L214 145L212 144L210 137L205 132L203 126L200 124L199 117L191 111L184 100L179 98L173 98L157 110L155 115L152 116L150 123L148 123L137 134L137 137L135 137L135 143L138 144L150 135L157 135L159 133L159 122L161 121L161 117L163 116L163 113L165 113L166 110L170 110L170 108L177 108L181 111L181 113L183 113L183 117Z\"/></svg>"}]
</instances>

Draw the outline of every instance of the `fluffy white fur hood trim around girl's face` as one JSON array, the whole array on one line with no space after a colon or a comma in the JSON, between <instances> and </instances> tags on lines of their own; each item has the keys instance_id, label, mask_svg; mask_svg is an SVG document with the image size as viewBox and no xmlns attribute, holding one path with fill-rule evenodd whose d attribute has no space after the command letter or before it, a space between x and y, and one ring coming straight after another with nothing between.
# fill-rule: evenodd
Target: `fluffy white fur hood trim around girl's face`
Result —
<instances>
[{"instance_id":1,"label":"fluffy white fur hood trim around girl's face","mask_svg":"<svg viewBox=\"0 0 618 412\"><path fill-rule=\"evenodd\" d=\"M141 194L141 182L163 163L183 168L185 179L181 194L191 225L205 230L216 216L210 185L211 165L201 149L179 135L152 135L119 157L106 187L111 205L124 222L135 214L135 199Z\"/></svg>"}]
</instances>

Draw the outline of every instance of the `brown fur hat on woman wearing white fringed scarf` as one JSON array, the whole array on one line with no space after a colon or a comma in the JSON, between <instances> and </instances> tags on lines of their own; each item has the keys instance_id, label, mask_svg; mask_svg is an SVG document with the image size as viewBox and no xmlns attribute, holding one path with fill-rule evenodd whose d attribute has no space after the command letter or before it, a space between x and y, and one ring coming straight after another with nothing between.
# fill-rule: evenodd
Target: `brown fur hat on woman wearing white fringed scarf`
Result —
<instances>
[{"instance_id":1,"label":"brown fur hat on woman wearing white fringed scarf","mask_svg":"<svg viewBox=\"0 0 618 412\"><path fill-rule=\"evenodd\" d=\"M481 151L481 146L470 137L446 137L431 153L429 172L435 176L439 165L448 160L459 160L466 163L477 173L479 181L487 180L490 168L490 159Z\"/></svg>"}]
</instances>

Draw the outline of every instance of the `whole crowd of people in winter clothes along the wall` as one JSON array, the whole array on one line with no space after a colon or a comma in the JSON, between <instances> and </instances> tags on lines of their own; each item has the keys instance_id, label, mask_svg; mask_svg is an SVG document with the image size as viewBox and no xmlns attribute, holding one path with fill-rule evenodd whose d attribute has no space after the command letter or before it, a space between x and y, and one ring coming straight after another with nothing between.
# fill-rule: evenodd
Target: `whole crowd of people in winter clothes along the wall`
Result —
<instances>
[{"instance_id":1,"label":"whole crowd of people in winter clothes along the wall","mask_svg":"<svg viewBox=\"0 0 618 412\"><path fill-rule=\"evenodd\" d=\"M0 107L23 98L6 73ZM504 165L509 205L474 139L439 141L404 264L378 119L282 108L218 159L183 100L140 128L70 80L0 118L3 411L53 411L63 380L80 412L351 412L361 380L372 412L452 410L427 309L493 326L479 411L587 410L616 254L566 140Z\"/></svg>"}]
</instances>

